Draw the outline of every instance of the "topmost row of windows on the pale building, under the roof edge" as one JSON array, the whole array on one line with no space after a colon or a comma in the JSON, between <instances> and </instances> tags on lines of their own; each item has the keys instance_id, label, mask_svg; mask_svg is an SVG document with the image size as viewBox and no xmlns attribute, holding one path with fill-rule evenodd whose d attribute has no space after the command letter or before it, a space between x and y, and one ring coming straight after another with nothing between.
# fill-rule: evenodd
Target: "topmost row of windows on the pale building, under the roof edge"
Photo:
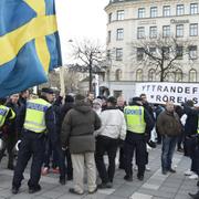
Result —
<instances>
[{"instance_id":1,"label":"topmost row of windows on the pale building, under the roof edge","mask_svg":"<svg viewBox=\"0 0 199 199\"><path fill-rule=\"evenodd\" d=\"M190 12L189 14L198 14L199 9L198 9L198 3L190 3ZM185 6L184 4L177 4L176 6L176 15L184 15L188 14L185 13ZM163 17L170 17L175 15L171 13L171 6L164 6L163 7ZM150 18L157 18L158 17L158 7L150 7ZM111 23L113 21L113 14L108 14L108 22ZM146 9L145 8L139 8L137 18L146 18ZM125 19L125 10L117 10L116 12L116 20L124 20Z\"/></svg>"}]
</instances>

